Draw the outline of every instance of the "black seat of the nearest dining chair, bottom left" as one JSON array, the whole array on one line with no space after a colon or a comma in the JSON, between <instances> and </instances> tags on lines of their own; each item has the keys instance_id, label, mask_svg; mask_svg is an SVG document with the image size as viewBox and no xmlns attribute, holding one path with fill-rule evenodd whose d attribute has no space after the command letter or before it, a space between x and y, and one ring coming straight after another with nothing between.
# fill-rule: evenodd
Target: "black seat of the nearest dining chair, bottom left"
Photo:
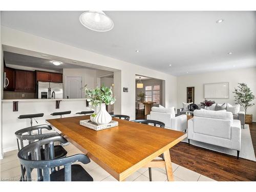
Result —
<instances>
[{"instance_id":1,"label":"black seat of the nearest dining chair, bottom left","mask_svg":"<svg viewBox=\"0 0 256 192\"><path fill-rule=\"evenodd\" d=\"M51 181L65 181L65 168L56 170L50 175ZM93 178L87 173L81 165L71 165L71 181L93 181Z\"/></svg>"}]
</instances>

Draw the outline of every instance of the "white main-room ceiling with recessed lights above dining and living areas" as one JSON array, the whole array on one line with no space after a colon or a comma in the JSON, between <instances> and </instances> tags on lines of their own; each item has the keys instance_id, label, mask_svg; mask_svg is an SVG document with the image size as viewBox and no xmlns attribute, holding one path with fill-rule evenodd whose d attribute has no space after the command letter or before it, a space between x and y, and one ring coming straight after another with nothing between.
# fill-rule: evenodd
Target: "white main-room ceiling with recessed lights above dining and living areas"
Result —
<instances>
[{"instance_id":1,"label":"white main-room ceiling with recessed lights above dining and living areas","mask_svg":"<svg viewBox=\"0 0 256 192\"><path fill-rule=\"evenodd\" d=\"M172 75L256 66L255 11L106 11L109 32L83 27L82 12L1 11L1 24Z\"/></svg>"}]
</instances>

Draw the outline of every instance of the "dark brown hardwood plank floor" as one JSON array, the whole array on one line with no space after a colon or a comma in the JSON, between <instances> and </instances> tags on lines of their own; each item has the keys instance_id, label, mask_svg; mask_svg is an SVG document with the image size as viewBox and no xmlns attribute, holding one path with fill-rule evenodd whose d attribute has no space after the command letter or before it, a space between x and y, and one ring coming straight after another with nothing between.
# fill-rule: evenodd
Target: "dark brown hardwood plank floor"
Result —
<instances>
[{"instance_id":1,"label":"dark brown hardwood plank floor","mask_svg":"<svg viewBox=\"0 0 256 192\"><path fill-rule=\"evenodd\" d=\"M145 119L141 111L136 119ZM250 134L256 155L256 123L250 123ZM170 148L174 163L217 181L256 181L256 162L214 152L180 142Z\"/></svg>"}]
</instances>

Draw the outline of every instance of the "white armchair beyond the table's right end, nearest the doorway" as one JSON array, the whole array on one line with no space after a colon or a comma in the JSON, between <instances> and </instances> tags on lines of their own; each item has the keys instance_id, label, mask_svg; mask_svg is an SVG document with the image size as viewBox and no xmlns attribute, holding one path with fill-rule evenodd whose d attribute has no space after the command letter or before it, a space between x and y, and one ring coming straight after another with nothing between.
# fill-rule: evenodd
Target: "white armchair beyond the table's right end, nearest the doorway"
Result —
<instances>
[{"instance_id":1,"label":"white armchair beyond the table's right end, nearest the doorway","mask_svg":"<svg viewBox=\"0 0 256 192\"><path fill-rule=\"evenodd\" d=\"M176 131L185 131L187 129L187 116L180 115L175 117L174 107L172 108L157 108L153 107L151 109L149 115L147 115L147 119L161 121L165 124L166 128L170 128Z\"/></svg>"}]
</instances>

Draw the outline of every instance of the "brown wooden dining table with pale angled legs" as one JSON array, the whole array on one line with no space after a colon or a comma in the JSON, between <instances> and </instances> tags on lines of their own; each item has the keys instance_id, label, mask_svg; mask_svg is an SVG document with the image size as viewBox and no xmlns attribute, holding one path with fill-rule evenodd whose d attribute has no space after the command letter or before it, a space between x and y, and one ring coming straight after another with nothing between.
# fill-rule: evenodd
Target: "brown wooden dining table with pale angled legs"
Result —
<instances>
[{"instance_id":1,"label":"brown wooden dining table with pale angled legs","mask_svg":"<svg viewBox=\"0 0 256 192\"><path fill-rule=\"evenodd\" d=\"M113 120L118 126L94 131L79 124L89 118L75 116L46 122L118 181L125 181L141 167L165 167L167 180L174 181L169 148L186 138L186 133L117 118ZM156 160L161 154L164 160Z\"/></svg>"}]
</instances>

